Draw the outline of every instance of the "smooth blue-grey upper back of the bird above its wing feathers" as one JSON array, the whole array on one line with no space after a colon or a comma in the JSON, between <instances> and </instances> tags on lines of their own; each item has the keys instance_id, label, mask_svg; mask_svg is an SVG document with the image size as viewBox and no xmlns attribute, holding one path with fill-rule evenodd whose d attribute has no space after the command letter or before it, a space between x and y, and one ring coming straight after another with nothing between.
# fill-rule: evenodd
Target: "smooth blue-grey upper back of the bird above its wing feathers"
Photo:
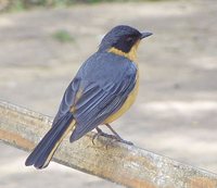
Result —
<instances>
[{"instance_id":1,"label":"smooth blue-grey upper back of the bird above its wing feathers","mask_svg":"<svg viewBox=\"0 0 217 188\"><path fill-rule=\"evenodd\" d=\"M106 83L123 82L137 74L137 65L125 57L110 52L95 52L80 67L76 77L104 86Z\"/></svg>"}]
</instances>

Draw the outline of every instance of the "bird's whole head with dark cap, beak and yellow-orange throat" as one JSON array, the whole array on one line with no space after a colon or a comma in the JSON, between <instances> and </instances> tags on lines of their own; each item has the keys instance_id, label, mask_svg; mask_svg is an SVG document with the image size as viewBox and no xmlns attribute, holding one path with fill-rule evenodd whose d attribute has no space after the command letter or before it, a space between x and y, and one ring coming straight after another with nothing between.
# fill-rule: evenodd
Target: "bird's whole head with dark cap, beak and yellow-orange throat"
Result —
<instances>
[{"instance_id":1,"label":"bird's whole head with dark cap, beak and yellow-orange throat","mask_svg":"<svg viewBox=\"0 0 217 188\"><path fill-rule=\"evenodd\" d=\"M104 36L99 50L108 51L135 61L140 40L151 35L152 33L149 32L140 33L130 26L119 25Z\"/></svg>"}]
</instances>

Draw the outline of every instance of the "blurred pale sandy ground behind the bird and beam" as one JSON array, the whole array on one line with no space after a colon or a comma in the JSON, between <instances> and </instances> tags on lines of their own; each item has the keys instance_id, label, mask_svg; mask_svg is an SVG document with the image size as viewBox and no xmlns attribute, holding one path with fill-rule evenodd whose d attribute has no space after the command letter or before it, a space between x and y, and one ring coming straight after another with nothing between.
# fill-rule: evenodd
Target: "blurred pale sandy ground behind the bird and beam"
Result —
<instances>
[{"instance_id":1,"label":"blurred pale sandy ground behind the bird and beam","mask_svg":"<svg viewBox=\"0 0 217 188\"><path fill-rule=\"evenodd\" d=\"M114 124L143 149L217 173L216 0L0 0L0 100L54 116L103 35L127 24L154 35L138 54L140 92ZM0 142L0 187L122 187Z\"/></svg>"}]
</instances>

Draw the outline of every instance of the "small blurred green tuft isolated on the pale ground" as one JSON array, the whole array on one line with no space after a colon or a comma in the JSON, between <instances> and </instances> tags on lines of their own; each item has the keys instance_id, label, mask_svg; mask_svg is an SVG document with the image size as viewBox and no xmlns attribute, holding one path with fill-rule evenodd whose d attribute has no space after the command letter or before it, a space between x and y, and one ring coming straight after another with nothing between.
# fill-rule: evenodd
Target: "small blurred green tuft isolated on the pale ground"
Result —
<instances>
[{"instance_id":1,"label":"small blurred green tuft isolated on the pale ground","mask_svg":"<svg viewBox=\"0 0 217 188\"><path fill-rule=\"evenodd\" d=\"M56 30L52 37L60 42L74 42L73 36L64 29Z\"/></svg>"}]
</instances>

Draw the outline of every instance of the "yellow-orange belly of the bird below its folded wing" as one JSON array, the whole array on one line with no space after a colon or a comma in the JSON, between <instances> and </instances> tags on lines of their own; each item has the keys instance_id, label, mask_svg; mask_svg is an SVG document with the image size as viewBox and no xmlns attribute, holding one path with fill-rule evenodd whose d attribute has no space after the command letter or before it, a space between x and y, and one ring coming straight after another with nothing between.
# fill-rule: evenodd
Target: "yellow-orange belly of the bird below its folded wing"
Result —
<instances>
[{"instance_id":1,"label":"yellow-orange belly of the bird below its folded wing","mask_svg":"<svg viewBox=\"0 0 217 188\"><path fill-rule=\"evenodd\" d=\"M108 123L114 122L115 120L120 117L126 111L128 111L129 108L133 104L133 102L135 102L135 100L137 98L138 91L139 91L139 73L137 73L136 86L135 86L133 90L130 92L130 95L128 96L128 98L125 101L125 103L123 104L123 106L116 113L114 113L111 116L108 116L104 121L104 124L108 124Z\"/></svg>"}]
</instances>

